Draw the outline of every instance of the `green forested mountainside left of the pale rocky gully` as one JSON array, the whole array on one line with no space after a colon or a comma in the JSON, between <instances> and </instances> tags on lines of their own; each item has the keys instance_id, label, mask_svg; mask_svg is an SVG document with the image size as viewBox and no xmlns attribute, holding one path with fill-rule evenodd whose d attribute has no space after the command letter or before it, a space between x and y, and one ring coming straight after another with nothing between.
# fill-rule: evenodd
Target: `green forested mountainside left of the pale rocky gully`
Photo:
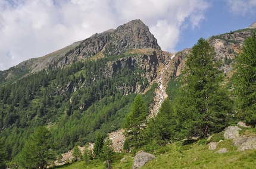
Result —
<instances>
[{"instance_id":1,"label":"green forested mountainside left of the pale rocky gully","mask_svg":"<svg viewBox=\"0 0 256 169\"><path fill-rule=\"evenodd\" d=\"M114 56L49 68L0 87L0 137L7 161L38 126L49 127L56 154L93 142L96 132L105 135L119 129L136 97L135 88L127 95L124 91L136 84L146 88L148 81L136 64L113 71L110 60ZM146 93L151 98L143 96L147 109L154 88Z\"/></svg>"}]
</instances>

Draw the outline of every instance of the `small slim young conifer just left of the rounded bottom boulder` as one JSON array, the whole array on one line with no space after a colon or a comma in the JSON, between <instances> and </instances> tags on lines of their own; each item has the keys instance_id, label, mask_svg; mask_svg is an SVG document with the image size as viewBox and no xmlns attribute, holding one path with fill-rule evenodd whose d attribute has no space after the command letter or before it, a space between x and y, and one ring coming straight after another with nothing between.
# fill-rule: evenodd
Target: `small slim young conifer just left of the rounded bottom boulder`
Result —
<instances>
[{"instance_id":1,"label":"small slim young conifer just left of the rounded bottom boulder","mask_svg":"<svg viewBox=\"0 0 256 169\"><path fill-rule=\"evenodd\" d=\"M107 168L111 168L111 162L113 161L114 147L110 138L107 138L102 148L102 160L107 161Z\"/></svg>"}]
</instances>

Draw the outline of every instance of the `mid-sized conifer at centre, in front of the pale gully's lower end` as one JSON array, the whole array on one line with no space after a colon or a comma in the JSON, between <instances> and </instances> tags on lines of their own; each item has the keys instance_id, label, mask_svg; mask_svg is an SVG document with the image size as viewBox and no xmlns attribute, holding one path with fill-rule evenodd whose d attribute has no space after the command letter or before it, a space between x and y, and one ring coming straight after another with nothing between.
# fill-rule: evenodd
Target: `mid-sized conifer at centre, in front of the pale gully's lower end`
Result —
<instances>
[{"instance_id":1,"label":"mid-sized conifer at centre, in front of the pale gully's lower end","mask_svg":"<svg viewBox=\"0 0 256 169\"><path fill-rule=\"evenodd\" d=\"M131 111L124 118L123 127L125 135L128 137L130 145L139 147L142 142L141 130L145 127L146 113L145 104L141 95L137 95L132 103Z\"/></svg>"}]
</instances>

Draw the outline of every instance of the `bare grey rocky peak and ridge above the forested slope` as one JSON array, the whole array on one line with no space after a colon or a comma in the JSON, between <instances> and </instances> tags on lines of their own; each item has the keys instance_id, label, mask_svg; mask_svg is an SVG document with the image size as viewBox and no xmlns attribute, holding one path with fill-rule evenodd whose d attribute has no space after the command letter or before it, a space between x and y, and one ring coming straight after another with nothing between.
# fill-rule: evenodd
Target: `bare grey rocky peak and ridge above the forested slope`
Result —
<instances>
[{"instance_id":1,"label":"bare grey rocky peak and ridge above the forested slope","mask_svg":"<svg viewBox=\"0 0 256 169\"><path fill-rule=\"evenodd\" d=\"M0 84L15 81L43 69L48 70L49 66L61 68L79 60L121 55L133 49L141 49L140 52L145 54L155 50L158 57L163 57L161 47L158 46L157 39L150 33L149 28L141 20L133 20L120 25L115 30L93 34L81 42L73 43L41 58L26 60L7 71L2 71Z\"/></svg>"}]
</instances>

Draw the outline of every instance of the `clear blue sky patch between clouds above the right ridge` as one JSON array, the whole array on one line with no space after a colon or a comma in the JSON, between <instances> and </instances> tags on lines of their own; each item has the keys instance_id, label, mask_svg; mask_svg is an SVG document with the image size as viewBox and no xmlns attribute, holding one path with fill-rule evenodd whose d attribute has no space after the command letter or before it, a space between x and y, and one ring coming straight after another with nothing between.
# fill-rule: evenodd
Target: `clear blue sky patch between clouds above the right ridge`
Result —
<instances>
[{"instance_id":1,"label":"clear blue sky patch between clouds above the right ridge","mask_svg":"<svg viewBox=\"0 0 256 169\"><path fill-rule=\"evenodd\" d=\"M230 1L231 4L235 2ZM238 2L249 5L249 1ZM251 5L251 7L240 6L240 8L236 9L234 7L232 10L231 4L228 1L210 1L210 6L205 11L204 20L201 21L199 27L195 29L187 28L182 31L175 50L180 51L186 47L192 47L200 37L207 39L214 35L249 27L249 25L256 21L256 1L251 2L254 2L254 5Z\"/></svg>"}]
</instances>

